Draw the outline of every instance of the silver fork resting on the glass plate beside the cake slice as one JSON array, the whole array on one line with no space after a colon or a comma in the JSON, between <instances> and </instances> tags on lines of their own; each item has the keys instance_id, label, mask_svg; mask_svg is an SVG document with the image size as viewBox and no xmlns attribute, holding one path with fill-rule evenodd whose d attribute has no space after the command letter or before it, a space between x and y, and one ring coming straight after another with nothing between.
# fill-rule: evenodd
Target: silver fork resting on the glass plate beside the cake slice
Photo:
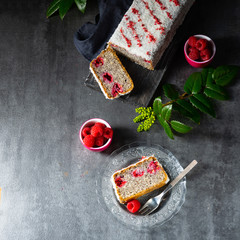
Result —
<instances>
[{"instance_id":1,"label":"silver fork resting on the glass plate beside the cake slice","mask_svg":"<svg viewBox=\"0 0 240 240\"><path fill-rule=\"evenodd\" d=\"M165 190L160 193L158 196L150 198L139 210L141 215L149 215L153 211L155 211L160 203L163 200L164 195L171 190L182 178L184 178L187 173L197 164L196 160L193 160L169 185L165 188Z\"/></svg>"}]
</instances>

